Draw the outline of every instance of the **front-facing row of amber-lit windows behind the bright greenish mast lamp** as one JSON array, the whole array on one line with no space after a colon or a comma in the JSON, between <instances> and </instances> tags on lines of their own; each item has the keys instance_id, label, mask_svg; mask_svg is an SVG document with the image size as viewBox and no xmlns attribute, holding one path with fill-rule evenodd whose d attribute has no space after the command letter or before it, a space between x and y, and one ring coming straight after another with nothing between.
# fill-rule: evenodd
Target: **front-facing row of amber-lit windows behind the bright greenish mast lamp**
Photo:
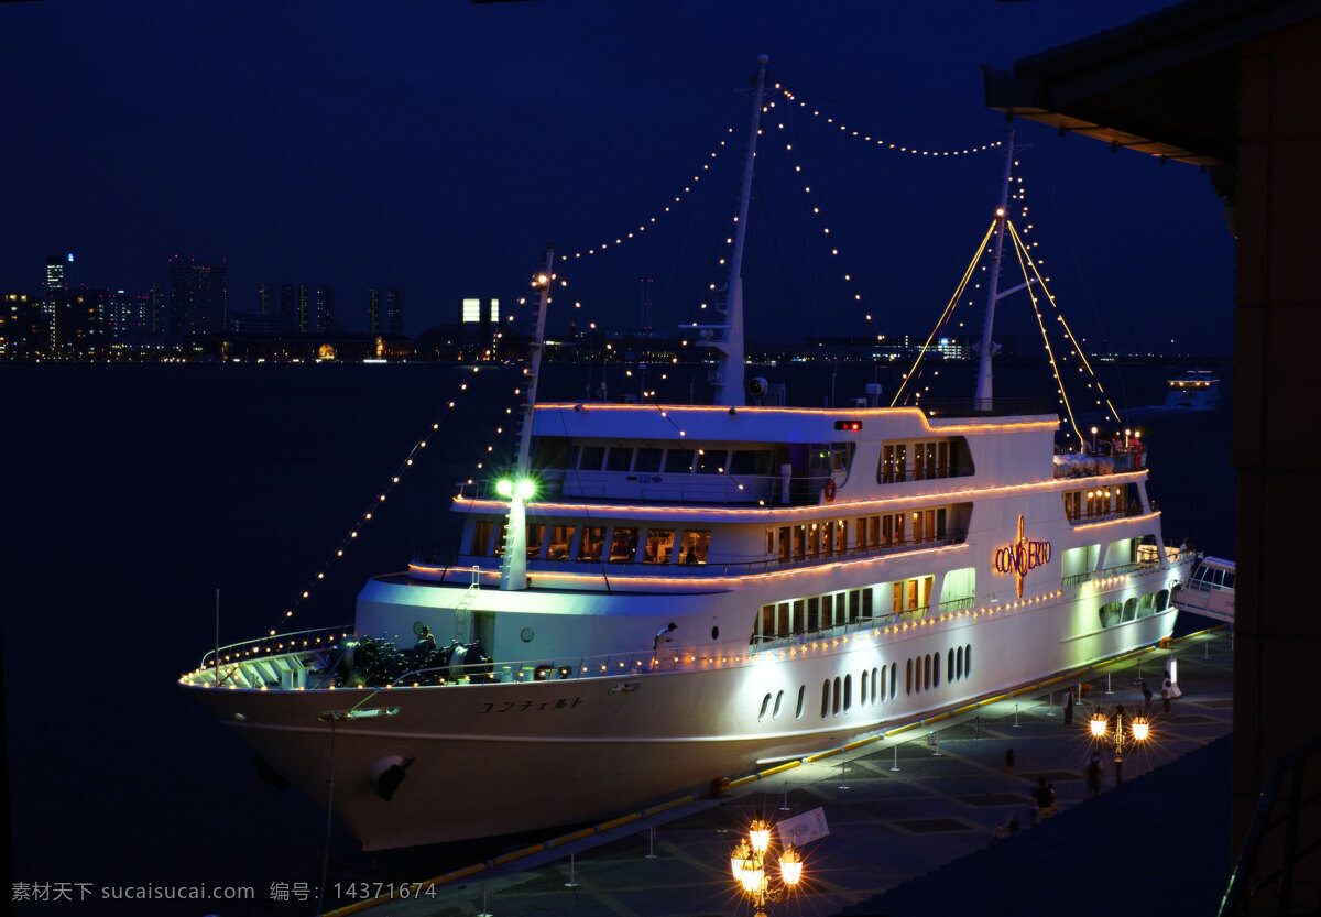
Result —
<instances>
[{"instance_id":1,"label":"front-facing row of amber-lit windows behind the bright greenish mast lamp","mask_svg":"<svg viewBox=\"0 0 1321 917\"><path fill-rule=\"evenodd\" d=\"M505 554L505 521L473 523L469 554L478 558ZM583 563L704 564L711 547L709 529L638 529L630 526L527 525L528 560Z\"/></svg>"}]
</instances>

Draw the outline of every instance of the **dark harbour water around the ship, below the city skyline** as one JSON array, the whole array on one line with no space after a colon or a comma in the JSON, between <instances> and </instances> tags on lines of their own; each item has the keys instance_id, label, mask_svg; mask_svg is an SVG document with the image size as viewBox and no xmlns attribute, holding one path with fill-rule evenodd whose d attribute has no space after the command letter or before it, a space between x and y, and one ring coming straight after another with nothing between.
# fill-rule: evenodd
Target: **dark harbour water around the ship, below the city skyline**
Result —
<instances>
[{"instance_id":1,"label":"dark harbour water around the ship, below the city skyline","mask_svg":"<svg viewBox=\"0 0 1321 917\"><path fill-rule=\"evenodd\" d=\"M580 399L612 366L553 366L543 394ZM647 371L647 387L687 402L704 370ZM790 366L790 400L838 400L893 373ZM942 373L966 396L967 367ZM1028 394L1028 370L1004 367L1003 394ZM1160 402L1165 369L1125 370L1128 404ZM1021 378L1020 378L1021 377ZM1032 377L1040 379L1040 374ZM1222 374L1225 378L1225 374ZM314 884L325 817L310 801L260 784L251 754L174 686L214 640L252 637L361 522L346 556L297 612L295 628L346 622L371 573L400 568L413 547L453 536L446 506L476 470L507 398L510 369L446 366L0 366L5 399L3 614L15 881L90 887L247 885L255 901L119 901L18 905L33 914L297 914L272 883ZM460 383L469 391L431 432ZM1119 383L1114 383L1115 388ZM1166 538L1193 532L1234 555L1234 474L1226 407L1152 419L1152 493ZM1118 395L1118 392L1115 392ZM1118 403L1118 402L1116 402ZM423 433L428 447L376 505ZM509 429L503 439L509 439ZM499 455L497 452L497 455ZM424 879L473 848L362 860L332 835L332 881L394 869ZM404 871L403 875L399 875ZM79 883L87 885L78 885Z\"/></svg>"}]
</instances>

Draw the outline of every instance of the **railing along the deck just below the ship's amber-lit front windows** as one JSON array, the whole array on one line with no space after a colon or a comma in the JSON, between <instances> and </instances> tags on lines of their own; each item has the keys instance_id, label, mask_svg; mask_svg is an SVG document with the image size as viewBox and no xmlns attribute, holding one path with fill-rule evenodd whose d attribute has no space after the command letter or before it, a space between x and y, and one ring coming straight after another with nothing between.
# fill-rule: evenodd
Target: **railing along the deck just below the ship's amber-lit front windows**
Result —
<instances>
[{"instance_id":1,"label":"railing along the deck just below the ship's amber-lit front windows","mask_svg":"<svg viewBox=\"0 0 1321 917\"><path fill-rule=\"evenodd\" d=\"M947 547L950 544L962 544L967 540L967 532L963 530L946 530L943 535L933 535L931 538L908 538L904 540L890 542L889 544L867 544L861 547L849 547L844 550L835 551L819 551L814 555L803 555L801 558L762 558L758 560L728 560L728 562L707 562L699 560L697 563L635 563L635 562L620 562L620 560L606 560L602 562L598 558L579 558L576 560L542 560L536 556L528 556L528 575L535 576L536 573L584 573L600 571L605 576L629 579L630 576L668 576L674 579L697 579L708 576L750 576L753 573L765 573L770 571L786 571L797 568L816 567L819 564L839 563L841 560L856 560L860 558L878 558L890 554L904 554L908 551L921 551L923 548L931 547ZM425 546L417 548L413 552L412 563L415 566L435 567L440 568L439 581L449 581L452 575L458 575L466 577L469 581L472 577L472 568L481 567L483 569L497 569L501 563L499 555L495 556L480 556L470 554L458 554L456 546L443 544L443 546ZM535 566L532 566L535 564Z\"/></svg>"}]
</instances>

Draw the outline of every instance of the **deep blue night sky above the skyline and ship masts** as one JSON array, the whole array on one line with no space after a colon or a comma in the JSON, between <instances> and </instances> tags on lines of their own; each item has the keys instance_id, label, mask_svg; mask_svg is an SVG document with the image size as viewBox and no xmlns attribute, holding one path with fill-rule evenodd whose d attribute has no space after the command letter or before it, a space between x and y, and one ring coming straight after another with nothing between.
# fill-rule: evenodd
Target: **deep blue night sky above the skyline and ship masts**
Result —
<instances>
[{"instance_id":1,"label":"deep blue night sky above the skyline and ship masts","mask_svg":"<svg viewBox=\"0 0 1321 917\"><path fill-rule=\"evenodd\" d=\"M548 242L573 252L634 229L719 140L701 193L645 243L563 270L571 313L657 325L694 316L736 193L748 102L770 75L822 116L923 149L1003 136L980 65L1123 25L1152 0L458 0L0 4L0 291L38 292L74 251L89 287L145 291L180 254L229 264L229 308L256 288L330 284L365 330L369 287L404 291L406 328L462 296L509 303ZM840 136L781 99L758 160L752 337L925 333L989 219L999 156L921 161ZM725 133L727 128L733 133ZM1231 350L1232 242L1209 176L1016 122L1033 238L1095 344ZM840 255L795 197L794 155ZM839 284L849 272L855 307ZM840 288L836 288L840 287ZM873 312L867 324L864 312ZM974 321L970 316L970 322ZM1011 330L1028 332L1026 318ZM1173 345L1169 341L1176 341Z\"/></svg>"}]
</instances>

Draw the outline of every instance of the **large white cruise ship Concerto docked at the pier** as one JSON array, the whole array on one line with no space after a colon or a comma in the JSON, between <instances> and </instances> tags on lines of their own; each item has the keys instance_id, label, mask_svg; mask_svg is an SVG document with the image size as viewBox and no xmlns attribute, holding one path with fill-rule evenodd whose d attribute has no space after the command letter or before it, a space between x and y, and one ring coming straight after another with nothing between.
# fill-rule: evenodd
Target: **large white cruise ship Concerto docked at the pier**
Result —
<instances>
[{"instance_id":1,"label":"large white cruise ship Concerto docked at the pier","mask_svg":"<svg viewBox=\"0 0 1321 917\"><path fill-rule=\"evenodd\" d=\"M461 542L185 690L384 850L610 818L1170 634L1193 556L1141 462L1061 473L989 346L962 406L778 403L737 263L712 404L536 403L548 255L519 457L460 488Z\"/></svg>"}]
</instances>

